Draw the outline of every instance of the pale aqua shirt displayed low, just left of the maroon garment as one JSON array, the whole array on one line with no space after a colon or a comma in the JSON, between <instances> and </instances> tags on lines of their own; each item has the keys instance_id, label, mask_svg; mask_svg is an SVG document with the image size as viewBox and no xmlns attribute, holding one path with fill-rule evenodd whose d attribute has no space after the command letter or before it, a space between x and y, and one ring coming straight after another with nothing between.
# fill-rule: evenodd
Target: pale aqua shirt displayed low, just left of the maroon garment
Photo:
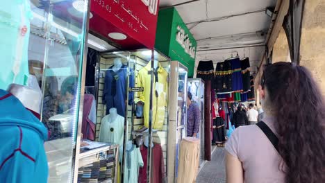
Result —
<instances>
[{"instance_id":1,"label":"pale aqua shirt displayed low, just left of the maroon garment","mask_svg":"<svg viewBox=\"0 0 325 183\"><path fill-rule=\"evenodd\" d=\"M138 183L139 168L143 166L140 148L132 144L126 148L126 159L124 164L124 183Z\"/></svg>"}]
</instances>

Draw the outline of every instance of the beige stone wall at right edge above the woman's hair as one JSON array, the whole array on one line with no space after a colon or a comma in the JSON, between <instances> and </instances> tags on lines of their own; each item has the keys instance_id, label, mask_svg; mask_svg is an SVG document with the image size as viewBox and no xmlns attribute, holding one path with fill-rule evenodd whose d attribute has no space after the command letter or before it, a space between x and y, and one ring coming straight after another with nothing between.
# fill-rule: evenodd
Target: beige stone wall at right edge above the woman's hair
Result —
<instances>
[{"instance_id":1,"label":"beige stone wall at right edge above the woman's hair","mask_svg":"<svg viewBox=\"0 0 325 183\"><path fill-rule=\"evenodd\" d=\"M325 0L308 0L303 14L300 55L325 96Z\"/></svg>"}]
</instances>

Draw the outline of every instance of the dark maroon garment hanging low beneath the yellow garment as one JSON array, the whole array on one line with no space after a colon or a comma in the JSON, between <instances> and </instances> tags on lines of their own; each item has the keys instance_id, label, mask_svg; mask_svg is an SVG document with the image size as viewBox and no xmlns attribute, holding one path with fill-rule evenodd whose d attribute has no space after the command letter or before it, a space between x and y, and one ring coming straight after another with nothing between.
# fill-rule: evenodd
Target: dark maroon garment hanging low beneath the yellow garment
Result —
<instances>
[{"instance_id":1,"label":"dark maroon garment hanging low beneath the yellow garment","mask_svg":"<svg viewBox=\"0 0 325 183\"><path fill-rule=\"evenodd\" d=\"M159 143L153 143L152 161L151 161L151 182L163 183L165 182L165 163L163 156L163 149ZM140 147L140 152L144 162L144 166L139 171L139 183L147 183L147 164L148 164L148 148L147 146Z\"/></svg>"}]
</instances>

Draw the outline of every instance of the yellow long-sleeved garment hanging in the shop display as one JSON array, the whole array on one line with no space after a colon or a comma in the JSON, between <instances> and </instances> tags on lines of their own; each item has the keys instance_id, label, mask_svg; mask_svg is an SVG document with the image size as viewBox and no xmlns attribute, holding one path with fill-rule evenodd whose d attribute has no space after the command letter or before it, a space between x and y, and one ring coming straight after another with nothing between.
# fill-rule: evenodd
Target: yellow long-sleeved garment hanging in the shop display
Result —
<instances>
[{"instance_id":1,"label":"yellow long-sleeved garment hanging in the shop display","mask_svg":"<svg viewBox=\"0 0 325 183\"><path fill-rule=\"evenodd\" d=\"M142 101L143 106L143 116L144 116L144 126L149 128L149 98L150 98L150 85L151 85L151 75L148 71L151 70L151 62L147 64L146 67L140 69L138 76L136 78L137 87L143 87L143 92L135 93L135 103ZM165 71L161 64L158 62L158 84L156 84L156 77L153 76L153 104L152 104L152 126L153 129L162 130L165 121L165 111L167 107L167 84L168 73ZM158 92L158 97L156 97L156 87L162 88Z\"/></svg>"}]
</instances>

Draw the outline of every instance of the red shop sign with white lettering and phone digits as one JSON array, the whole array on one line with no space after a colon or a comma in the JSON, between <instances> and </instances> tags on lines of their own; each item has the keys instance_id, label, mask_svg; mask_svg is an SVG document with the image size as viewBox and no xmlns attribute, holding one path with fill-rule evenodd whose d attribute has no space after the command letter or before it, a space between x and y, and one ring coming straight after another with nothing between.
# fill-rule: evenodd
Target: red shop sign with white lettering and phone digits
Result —
<instances>
[{"instance_id":1,"label":"red shop sign with white lettering and phone digits","mask_svg":"<svg viewBox=\"0 0 325 183\"><path fill-rule=\"evenodd\" d=\"M153 49L158 5L159 0L91 0L90 30L122 49ZM126 39L115 40L110 33L122 33Z\"/></svg>"}]
</instances>

